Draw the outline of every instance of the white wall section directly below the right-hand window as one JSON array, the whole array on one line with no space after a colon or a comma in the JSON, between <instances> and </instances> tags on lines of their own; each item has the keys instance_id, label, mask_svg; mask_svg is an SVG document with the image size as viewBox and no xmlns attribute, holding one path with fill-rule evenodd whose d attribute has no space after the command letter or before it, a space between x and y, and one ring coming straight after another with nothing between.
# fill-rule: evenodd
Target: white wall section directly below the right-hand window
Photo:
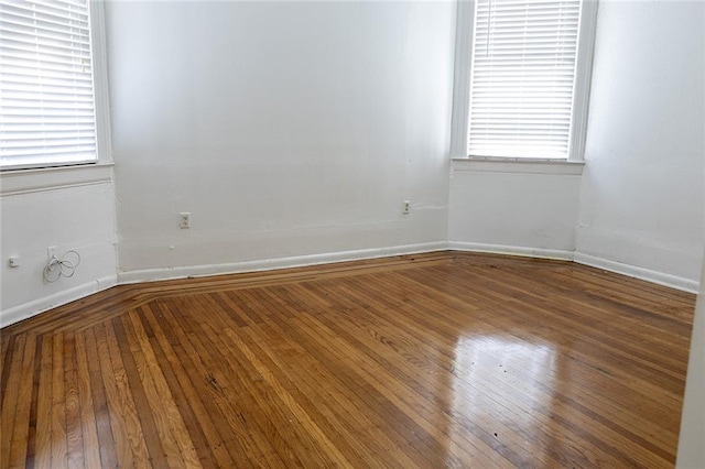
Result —
<instances>
[{"instance_id":1,"label":"white wall section directly below the right-hand window","mask_svg":"<svg viewBox=\"0 0 705 469\"><path fill-rule=\"evenodd\" d=\"M455 167L449 240L459 247L500 246L508 251L535 250L540 255L546 250L572 252L579 192L579 175Z\"/></svg>"}]
</instances>

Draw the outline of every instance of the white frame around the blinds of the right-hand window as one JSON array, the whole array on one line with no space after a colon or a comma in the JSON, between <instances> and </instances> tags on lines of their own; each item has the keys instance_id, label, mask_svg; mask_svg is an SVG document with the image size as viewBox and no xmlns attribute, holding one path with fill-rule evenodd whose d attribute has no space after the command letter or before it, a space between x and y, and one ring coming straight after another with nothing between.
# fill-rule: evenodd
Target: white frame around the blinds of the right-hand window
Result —
<instances>
[{"instance_id":1,"label":"white frame around the blinds of the right-hand window","mask_svg":"<svg viewBox=\"0 0 705 469\"><path fill-rule=\"evenodd\" d=\"M585 138L587 134L587 112L590 91L590 76L593 69L593 53L595 50L595 28L597 23L597 0L584 0L583 18L578 41L578 57L576 63L575 102L571 126L571 142L567 160L550 159L487 159L468 156L468 118L470 106L470 58L473 51L473 20L475 1L458 0L455 29L455 70L453 89L453 123L451 134L451 157L458 160L495 161L502 163L541 164L552 161L582 163L585 156Z\"/></svg>"}]
</instances>

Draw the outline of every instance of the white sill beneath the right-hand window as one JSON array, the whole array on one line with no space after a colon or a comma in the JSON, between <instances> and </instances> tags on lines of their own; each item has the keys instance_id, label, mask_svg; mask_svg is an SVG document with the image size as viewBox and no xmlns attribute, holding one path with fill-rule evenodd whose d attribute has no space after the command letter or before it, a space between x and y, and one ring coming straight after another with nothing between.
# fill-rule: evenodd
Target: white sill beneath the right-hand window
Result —
<instances>
[{"instance_id":1,"label":"white sill beneath the right-hand window","mask_svg":"<svg viewBox=\"0 0 705 469\"><path fill-rule=\"evenodd\" d=\"M584 161L508 159L508 157L456 157L453 171L480 173L521 173L579 176Z\"/></svg>"}]
</instances>

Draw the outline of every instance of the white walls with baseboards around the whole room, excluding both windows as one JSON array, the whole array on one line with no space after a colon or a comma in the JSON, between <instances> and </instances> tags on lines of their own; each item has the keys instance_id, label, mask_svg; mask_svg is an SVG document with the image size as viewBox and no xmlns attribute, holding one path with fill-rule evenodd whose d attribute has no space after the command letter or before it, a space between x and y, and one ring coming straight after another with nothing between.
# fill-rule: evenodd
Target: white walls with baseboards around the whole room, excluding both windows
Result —
<instances>
[{"instance_id":1,"label":"white walls with baseboards around the whole room, excluding both windows","mask_svg":"<svg viewBox=\"0 0 705 469\"><path fill-rule=\"evenodd\" d=\"M120 277L451 240L552 257L577 247L584 262L695 285L705 239L703 3L600 2L583 176L550 165L451 168L455 8L109 2ZM112 185L102 185L3 196L2 317L115 275ZM181 211L192 212L192 229L177 228ZM45 285L37 272L52 244L96 251L80 275ZM14 254L24 265L9 269Z\"/></svg>"}]
</instances>

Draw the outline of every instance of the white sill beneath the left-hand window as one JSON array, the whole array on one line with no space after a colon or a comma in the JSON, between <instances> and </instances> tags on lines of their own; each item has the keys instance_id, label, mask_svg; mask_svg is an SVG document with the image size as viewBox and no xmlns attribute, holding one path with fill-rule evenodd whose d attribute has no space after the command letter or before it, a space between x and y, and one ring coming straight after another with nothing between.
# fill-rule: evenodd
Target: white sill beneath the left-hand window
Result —
<instances>
[{"instance_id":1,"label":"white sill beneath the left-hand window","mask_svg":"<svg viewBox=\"0 0 705 469\"><path fill-rule=\"evenodd\" d=\"M0 195L9 196L110 183L112 166L112 163L96 163L3 171L0 173Z\"/></svg>"}]
</instances>

